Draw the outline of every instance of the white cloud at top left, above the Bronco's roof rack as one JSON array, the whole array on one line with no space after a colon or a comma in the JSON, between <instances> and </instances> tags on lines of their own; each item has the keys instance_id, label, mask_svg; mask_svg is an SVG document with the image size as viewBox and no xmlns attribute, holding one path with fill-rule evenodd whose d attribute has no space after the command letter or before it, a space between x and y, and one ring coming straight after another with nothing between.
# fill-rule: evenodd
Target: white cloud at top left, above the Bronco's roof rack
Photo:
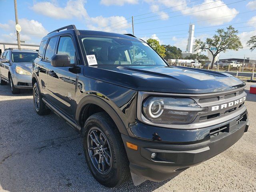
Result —
<instances>
[{"instance_id":1,"label":"white cloud at top left, above the Bronco's roof rack","mask_svg":"<svg viewBox=\"0 0 256 192\"><path fill-rule=\"evenodd\" d=\"M69 0L64 8L58 4L51 2L37 2L31 9L36 13L55 18L55 19L72 19L72 18L87 18L88 14L84 8L85 0Z\"/></svg>"}]
</instances>

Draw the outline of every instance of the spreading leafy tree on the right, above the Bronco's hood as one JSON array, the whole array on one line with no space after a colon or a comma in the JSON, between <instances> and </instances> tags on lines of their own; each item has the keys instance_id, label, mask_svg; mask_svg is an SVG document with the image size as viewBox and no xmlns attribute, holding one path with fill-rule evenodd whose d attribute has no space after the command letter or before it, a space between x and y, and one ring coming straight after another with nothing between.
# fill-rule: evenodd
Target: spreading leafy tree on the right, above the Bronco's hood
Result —
<instances>
[{"instance_id":1,"label":"spreading leafy tree on the right, above the Bronco's hood","mask_svg":"<svg viewBox=\"0 0 256 192\"><path fill-rule=\"evenodd\" d=\"M202 51L209 50L212 53L212 66L214 64L215 57L220 52L226 52L228 50L235 50L243 48L240 38L237 33L238 30L235 30L234 27L229 26L225 29L218 29L212 38L207 38L205 42L200 39L196 39L196 48L201 49ZM216 52L213 53L211 48L216 48Z\"/></svg>"}]
</instances>

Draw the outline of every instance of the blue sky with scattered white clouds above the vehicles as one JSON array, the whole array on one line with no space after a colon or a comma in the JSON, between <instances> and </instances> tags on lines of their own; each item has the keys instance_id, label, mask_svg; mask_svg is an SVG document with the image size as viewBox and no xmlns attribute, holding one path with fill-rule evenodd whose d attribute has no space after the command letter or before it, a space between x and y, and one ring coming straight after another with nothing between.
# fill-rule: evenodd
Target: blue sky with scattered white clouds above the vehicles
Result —
<instances>
[{"instance_id":1,"label":"blue sky with scattered white clouds above the vehicles","mask_svg":"<svg viewBox=\"0 0 256 192\"><path fill-rule=\"evenodd\" d=\"M220 59L256 60L246 42L256 35L256 0L17 0L20 39L40 44L43 36L70 24L77 29L101 30L154 38L160 44L186 50L189 24L195 38L211 38L218 28L234 26L244 46L220 53ZM13 0L0 0L0 42L16 42Z\"/></svg>"}]
</instances>

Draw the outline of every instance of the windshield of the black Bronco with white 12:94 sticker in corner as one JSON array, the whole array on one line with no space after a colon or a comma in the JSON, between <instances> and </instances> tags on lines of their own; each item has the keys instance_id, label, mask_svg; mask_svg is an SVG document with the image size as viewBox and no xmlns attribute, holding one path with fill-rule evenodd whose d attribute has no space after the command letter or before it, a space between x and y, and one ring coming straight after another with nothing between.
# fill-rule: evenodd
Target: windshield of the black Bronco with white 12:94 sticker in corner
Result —
<instances>
[{"instance_id":1,"label":"windshield of the black Bronco with white 12:94 sticker in corner","mask_svg":"<svg viewBox=\"0 0 256 192\"><path fill-rule=\"evenodd\" d=\"M167 66L148 44L122 38L80 36L86 55L97 65ZM91 64L89 64L91 65Z\"/></svg>"}]
</instances>

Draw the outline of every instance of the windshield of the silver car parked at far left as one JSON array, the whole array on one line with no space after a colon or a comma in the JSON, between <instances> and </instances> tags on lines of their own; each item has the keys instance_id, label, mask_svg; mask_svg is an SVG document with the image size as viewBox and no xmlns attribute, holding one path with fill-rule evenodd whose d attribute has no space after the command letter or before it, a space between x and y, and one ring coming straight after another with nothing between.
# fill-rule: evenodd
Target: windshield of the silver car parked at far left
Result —
<instances>
[{"instance_id":1,"label":"windshield of the silver car parked at far left","mask_svg":"<svg viewBox=\"0 0 256 192\"><path fill-rule=\"evenodd\" d=\"M12 62L32 63L37 57L37 53L12 52Z\"/></svg>"}]
</instances>

